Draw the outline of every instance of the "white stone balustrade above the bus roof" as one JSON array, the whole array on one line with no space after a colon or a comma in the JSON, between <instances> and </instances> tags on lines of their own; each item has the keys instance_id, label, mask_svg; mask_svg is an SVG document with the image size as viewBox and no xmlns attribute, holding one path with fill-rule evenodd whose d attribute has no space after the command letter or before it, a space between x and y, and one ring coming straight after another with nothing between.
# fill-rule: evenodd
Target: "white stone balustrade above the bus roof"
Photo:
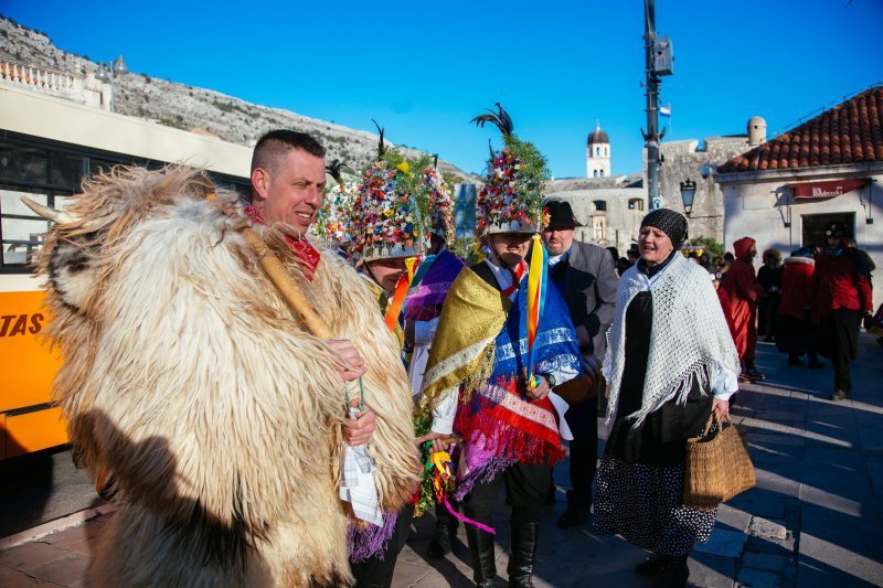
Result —
<instances>
[{"instance_id":1,"label":"white stone balustrade above the bus roof","mask_svg":"<svg viewBox=\"0 0 883 588\"><path fill-rule=\"evenodd\" d=\"M100 82L92 72L83 76L0 60L0 82L93 108L110 109L110 85Z\"/></svg>"}]
</instances>

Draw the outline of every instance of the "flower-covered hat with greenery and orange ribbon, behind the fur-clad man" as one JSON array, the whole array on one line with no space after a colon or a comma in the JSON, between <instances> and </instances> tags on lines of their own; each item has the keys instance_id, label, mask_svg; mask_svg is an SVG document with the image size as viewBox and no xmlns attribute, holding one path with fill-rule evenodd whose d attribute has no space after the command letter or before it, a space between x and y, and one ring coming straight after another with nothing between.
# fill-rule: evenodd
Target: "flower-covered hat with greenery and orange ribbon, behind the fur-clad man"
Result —
<instances>
[{"instance_id":1,"label":"flower-covered hat with greenery and orange ribbon, behind the fur-clad man","mask_svg":"<svg viewBox=\"0 0 883 588\"><path fill-rule=\"evenodd\" d=\"M421 170L429 167L429 158L407 159L386 147L383 129L377 130L377 161L362 174L352 210L350 252L357 263L423 255L428 238L432 205Z\"/></svg>"}]
</instances>

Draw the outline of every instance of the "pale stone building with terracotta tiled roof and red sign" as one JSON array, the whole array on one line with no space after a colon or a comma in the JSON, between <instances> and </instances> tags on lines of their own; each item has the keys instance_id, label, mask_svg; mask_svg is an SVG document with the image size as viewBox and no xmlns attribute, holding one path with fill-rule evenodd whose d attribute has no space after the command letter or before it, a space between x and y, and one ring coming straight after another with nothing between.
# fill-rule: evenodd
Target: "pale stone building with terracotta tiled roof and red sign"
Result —
<instances>
[{"instance_id":1,"label":"pale stone building with terracotta tiled roof and red sign","mask_svg":"<svg viewBox=\"0 0 883 588\"><path fill-rule=\"evenodd\" d=\"M751 236L759 250L774 247L787 256L801 246L822 245L826 228L841 222L880 265L883 86L733 158L717 168L714 180L723 192L727 249ZM879 304L883 280L873 281Z\"/></svg>"}]
</instances>

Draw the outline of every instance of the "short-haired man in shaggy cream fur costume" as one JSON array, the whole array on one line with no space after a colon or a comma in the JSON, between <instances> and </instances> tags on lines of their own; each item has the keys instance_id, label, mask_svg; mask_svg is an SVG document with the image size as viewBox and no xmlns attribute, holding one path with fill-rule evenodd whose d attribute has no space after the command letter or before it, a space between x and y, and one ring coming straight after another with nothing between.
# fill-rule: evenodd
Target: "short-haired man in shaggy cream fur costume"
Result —
<instances>
[{"instance_id":1,"label":"short-haired man in shaggy cream fur costume","mask_svg":"<svg viewBox=\"0 0 883 588\"><path fill-rule=\"evenodd\" d=\"M351 584L352 510L338 485L344 385L360 375L366 408L345 439L371 440L380 510L412 495L419 464L396 342L363 280L304 237L322 156L301 133L262 139L251 218L236 194L181 168L119 168L65 213L44 211L57 223L39 268L65 357L56 399L82 463L114 480L118 503L89 585ZM206 200L215 191L220 202ZM292 316L237 231L249 223L338 341Z\"/></svg>"}]
</instances>

